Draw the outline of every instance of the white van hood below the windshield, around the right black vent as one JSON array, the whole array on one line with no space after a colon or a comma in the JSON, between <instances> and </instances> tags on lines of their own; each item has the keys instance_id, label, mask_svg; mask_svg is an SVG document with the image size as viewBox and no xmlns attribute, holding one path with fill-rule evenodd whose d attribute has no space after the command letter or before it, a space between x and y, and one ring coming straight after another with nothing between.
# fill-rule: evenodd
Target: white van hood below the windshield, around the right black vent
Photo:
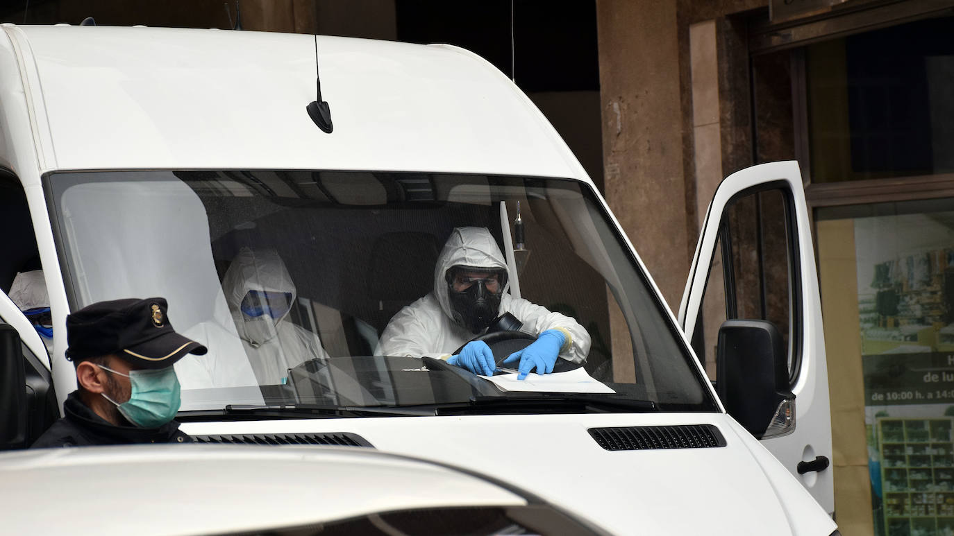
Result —
<instances>
[{"instance_id":1,"label":"white van hood below the windshield, around the right black vent","mask_svg":"<svg viewBox=\"0 0 954 536\"><path fill-rule=\"evenodd\" d=\"M593 427L713 425L725 447L616 450ZM616 534L829 536L835 523L719 413L482 415L189 423L190 434L351 432L374 447L480 471Z\"/></svg>"}]
</instances>

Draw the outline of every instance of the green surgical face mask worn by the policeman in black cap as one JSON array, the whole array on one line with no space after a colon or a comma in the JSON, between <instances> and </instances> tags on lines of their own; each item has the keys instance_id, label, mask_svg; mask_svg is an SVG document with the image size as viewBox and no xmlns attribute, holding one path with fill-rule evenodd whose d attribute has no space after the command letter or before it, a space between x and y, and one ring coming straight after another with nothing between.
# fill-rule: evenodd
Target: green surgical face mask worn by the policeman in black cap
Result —
<instances>
[{"instance_id":1,"label":"green surgical face mask worn by the policeman in black cap","mask_svg":"<svg viewBox=\"0 0 954 536\"><path fill-rule=\"evenodd\" d=\"M129 378L133 393L128 401L118 404L106 393L103 393L103 398L112 402L130 423L141 428L157 428L176 417L182 401L175 368L130 370L129 374L123 374L110 367L99 367Z\"/></svg>"}]
</instances>

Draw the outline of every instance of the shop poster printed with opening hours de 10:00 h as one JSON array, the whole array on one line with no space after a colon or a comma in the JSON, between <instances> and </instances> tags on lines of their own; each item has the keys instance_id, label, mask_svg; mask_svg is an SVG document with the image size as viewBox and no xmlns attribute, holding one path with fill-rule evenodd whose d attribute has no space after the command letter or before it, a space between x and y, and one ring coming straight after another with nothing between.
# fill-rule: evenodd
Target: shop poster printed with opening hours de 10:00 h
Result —
<instances>
[{"instance_id":1,"label":"shop poster printed with opening hours de 10:00 h","mask_svg":"<svg viewBox=\"0 0 954 536\"><path fill-rule=\"evenodd\" d=\"M875 534L954 536L954 212L855 219Z\"/></svg>"}]
</instances>

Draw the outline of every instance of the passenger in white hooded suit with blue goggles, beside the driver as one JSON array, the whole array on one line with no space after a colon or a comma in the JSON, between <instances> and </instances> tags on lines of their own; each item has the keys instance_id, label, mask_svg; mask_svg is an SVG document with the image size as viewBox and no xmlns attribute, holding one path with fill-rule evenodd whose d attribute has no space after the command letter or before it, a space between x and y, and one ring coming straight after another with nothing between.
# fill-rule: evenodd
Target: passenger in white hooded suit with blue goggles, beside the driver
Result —
<instances>
[{"instance_id":1,"label":"passenger in white hooded suit with blue goggles, beside the driver","mask_svg":"<svg viewBox=\"0 0 954 536\"><path fill-rule=\"evenodd\" d=\"M284 385L289 368L328 357L317 334L286 319L295 285L274 249L241 248L222 290L259 385Z\"/></svg>"}]
</instances>

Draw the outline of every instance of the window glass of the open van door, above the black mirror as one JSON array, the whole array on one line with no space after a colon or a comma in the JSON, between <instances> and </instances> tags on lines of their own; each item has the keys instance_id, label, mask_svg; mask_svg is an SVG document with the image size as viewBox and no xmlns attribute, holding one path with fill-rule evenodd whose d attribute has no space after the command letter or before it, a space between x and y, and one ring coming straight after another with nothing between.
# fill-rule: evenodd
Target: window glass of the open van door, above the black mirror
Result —
<instances>
[{"instance_id":1,"label":"window glass of the open van door, above the black mirror","mask_svg":"<svg viewBox=\"0 0 954 536\"><path fill-rule=\"evenodd\" d=\"M716 378L718 329L729 319L768 320L788 347L789 375L798 368L798 256L792 210L781 189L743 194L726 209L702 300L701 326L693 337L696 355ZM793 335L794 334L794 335Z\"/></svg>"}]
</instances>

